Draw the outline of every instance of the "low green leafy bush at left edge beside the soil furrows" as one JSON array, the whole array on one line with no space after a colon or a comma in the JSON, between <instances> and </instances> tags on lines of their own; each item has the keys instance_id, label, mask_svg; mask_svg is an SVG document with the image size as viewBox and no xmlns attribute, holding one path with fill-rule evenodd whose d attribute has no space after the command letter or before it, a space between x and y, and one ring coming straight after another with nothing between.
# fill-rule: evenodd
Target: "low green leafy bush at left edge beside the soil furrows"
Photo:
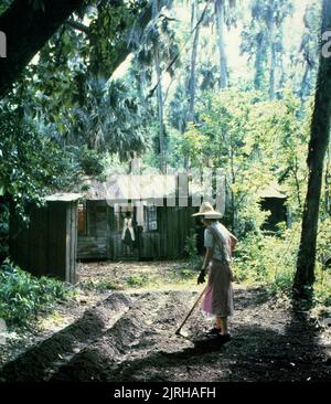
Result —
<instances>
[{"instance_id":1,"label":"low green leafy bush at left edge beside the soil furrows","mask_svg":"<svg viewBox=\"0 0 331 404\"><path fill-rule=\"evenodd\" d=\"M0 267L0 318L9 327L26 327L39 312L52 311L56 302L73 296L73 289L66 284L36 278L9 259Z\"/></svg>"}]
</instances>

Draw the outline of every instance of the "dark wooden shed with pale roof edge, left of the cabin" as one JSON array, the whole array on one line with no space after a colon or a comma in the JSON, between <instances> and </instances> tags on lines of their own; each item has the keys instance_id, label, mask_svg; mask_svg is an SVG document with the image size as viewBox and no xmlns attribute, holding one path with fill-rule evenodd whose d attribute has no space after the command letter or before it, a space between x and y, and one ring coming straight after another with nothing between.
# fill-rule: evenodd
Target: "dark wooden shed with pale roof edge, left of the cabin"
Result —
<instances>
[{"instance_id":1,"label":"dark wooden shed with pale roof edge, left of the cabin","mask_svg":"<svg viewBox=\"0 0 331 404\"><path fill-rule=\"evenodd\" d=\"M33 275L76 281L77 206L82 194L58 193L45 198L45 205L31 205L30 225L22 230L11 219L9 251L22 269Z\"/></svg>"}]
</instances>

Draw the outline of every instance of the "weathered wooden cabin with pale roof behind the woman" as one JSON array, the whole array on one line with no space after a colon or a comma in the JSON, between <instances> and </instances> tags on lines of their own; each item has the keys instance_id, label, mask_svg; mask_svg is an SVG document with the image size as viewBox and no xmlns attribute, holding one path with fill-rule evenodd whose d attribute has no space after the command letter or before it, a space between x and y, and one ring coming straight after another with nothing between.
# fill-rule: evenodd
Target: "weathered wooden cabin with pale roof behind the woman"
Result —
<instances>
[{"instance_id":1,"label":"weathered wooden cabin with pale roof behind the woman","mask_svg":"<svg viewBox=\"0 0 331 404\"><path fill-rule=\"evenodd\" d=\"M126 259L121 234L128 211L136 223L131 259L183 256L196 208L191 199L179 198L174 176L115 176L84 187L88 190L78 204L78 259Z\"/></svg>"}]
</instances>

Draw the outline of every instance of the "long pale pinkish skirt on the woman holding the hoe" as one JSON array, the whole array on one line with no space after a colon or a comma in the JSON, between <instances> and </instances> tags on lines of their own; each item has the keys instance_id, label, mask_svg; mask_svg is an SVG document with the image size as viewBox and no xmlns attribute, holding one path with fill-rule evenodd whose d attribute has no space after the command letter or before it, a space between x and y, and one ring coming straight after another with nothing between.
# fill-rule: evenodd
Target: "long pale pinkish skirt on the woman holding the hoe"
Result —
<instances>
[{"instance_id":1,"label":"long pale pinkish skirt on the woman holding the hoe","mask_svg":"<svg viewBox=\"0 0 331 404\"><path fill-rule=\"evenodd\" d=\"M206 291L201 309L215 317L233 316L233 288L231 283L229 264L213 259Z\"/></svg>"}]
</instances>

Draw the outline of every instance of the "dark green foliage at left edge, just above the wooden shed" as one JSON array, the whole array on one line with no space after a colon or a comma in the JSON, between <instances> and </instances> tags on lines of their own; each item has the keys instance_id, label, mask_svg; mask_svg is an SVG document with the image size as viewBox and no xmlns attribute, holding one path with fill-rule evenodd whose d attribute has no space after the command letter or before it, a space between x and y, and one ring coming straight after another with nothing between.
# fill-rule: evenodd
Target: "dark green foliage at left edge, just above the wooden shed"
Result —
<instances>
[{"instance_id":1,"label":"dark green foliage at left edge, just above the wooden shed","mask_svg":"<svg viewBox=\"0 0 331 404\"><path fill-rule=\"evenodd\" d=\"M26 204L40 204L45 193L68 187L77 168L73 155L45 136L21 108L0 105L0 194L26 220Z\"/></svg>"}]
</instances>

